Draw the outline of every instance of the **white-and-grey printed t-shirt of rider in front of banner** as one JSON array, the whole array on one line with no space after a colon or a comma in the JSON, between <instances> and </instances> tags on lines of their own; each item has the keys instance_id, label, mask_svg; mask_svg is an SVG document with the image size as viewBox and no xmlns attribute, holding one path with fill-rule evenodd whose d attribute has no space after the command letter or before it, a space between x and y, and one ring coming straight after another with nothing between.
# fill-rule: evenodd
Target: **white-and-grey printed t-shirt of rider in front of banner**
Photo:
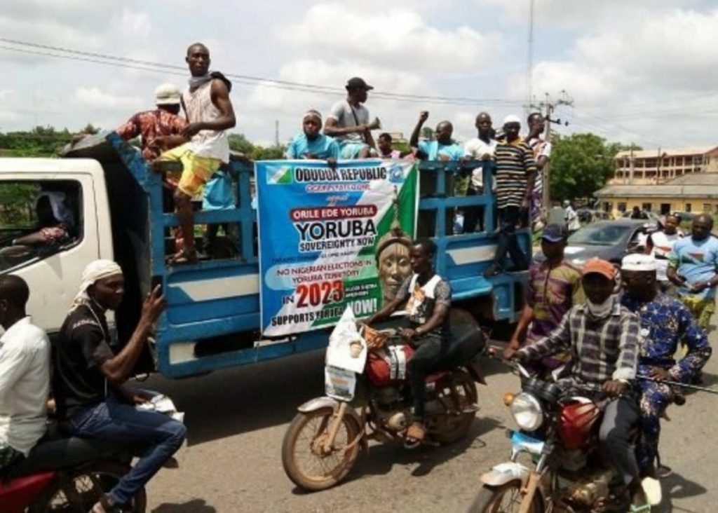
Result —
<instances>
[{"instance_id":1,"label":"white-and-grey printed t-shirt of rider in front of banner","mask_svg":"<svg viewBox=\"0 0 718 513\"><path fill-rule=\"evenodd\" d=\"M423 286L419 284L419 275L409 276L401 284L396 297L401 301L406 300L404 308L408 314L409 322L416 327L421 326L434 315L434 308L443 304L451 307L451 286L438 274L429 278ZM449 316L444 319L441 326L428 331L427 336L437 336L444 341L449 340L450 326Z\"/></svg>"}]
</instances>

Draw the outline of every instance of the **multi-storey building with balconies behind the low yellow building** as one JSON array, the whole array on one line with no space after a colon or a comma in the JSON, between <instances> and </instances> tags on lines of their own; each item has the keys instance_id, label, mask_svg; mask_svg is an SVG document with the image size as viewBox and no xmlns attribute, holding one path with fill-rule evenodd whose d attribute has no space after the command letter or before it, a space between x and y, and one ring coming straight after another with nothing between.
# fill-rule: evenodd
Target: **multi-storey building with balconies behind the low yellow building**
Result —
<instances>
[{"instance_id":1,"label":"multi-storey building with balconies behind the low yellow building","mask_svg":"<svg viewBox=\"0 0 718 513\"><path fill-rule=\"evenodd\" d=\"M718 146L619 151L609 184L662 184L696 173L718 173Z\"/></svg>"}]
</instances>

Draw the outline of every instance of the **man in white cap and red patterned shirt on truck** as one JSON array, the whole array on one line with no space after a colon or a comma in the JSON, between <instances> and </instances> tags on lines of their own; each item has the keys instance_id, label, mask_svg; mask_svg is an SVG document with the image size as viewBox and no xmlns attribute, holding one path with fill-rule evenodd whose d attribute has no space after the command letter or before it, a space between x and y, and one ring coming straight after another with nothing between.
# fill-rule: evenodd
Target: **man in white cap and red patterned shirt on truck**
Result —
<instances>
[{"instance_id":1,"label":"man in white cap and red patterned shirt on truck","mask_svg":"<svg viewBox=\"0 0 718 513\"><path fill-rule=\"evenodd\" d=\"M154 110L144 110L129 118L116 132L125 141L141 136L142 156L157 159L161 151L184 143L181 137L187 121L180 113L182 93L174 84L162 84L154 90ZM174 137L172 137L174 136Z\"/></svg>"}]
</instances>

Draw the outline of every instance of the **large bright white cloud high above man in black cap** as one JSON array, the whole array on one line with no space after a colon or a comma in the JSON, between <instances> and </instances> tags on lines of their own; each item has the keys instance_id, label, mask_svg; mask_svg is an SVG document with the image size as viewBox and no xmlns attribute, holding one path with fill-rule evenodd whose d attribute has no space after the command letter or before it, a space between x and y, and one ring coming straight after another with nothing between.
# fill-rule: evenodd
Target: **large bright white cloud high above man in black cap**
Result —
<instances>
[{"instance_id":1,"label":"large bright white cloud high above man in black cap","mask_svg":"<svg viewBox=\"0 0 718 513\"><path fill-rule=\"evenodd\" d=\"M416 11L396 6L358 11L318 4L298 24L282 27L280 38L325 58L448 74L475 70L500 52L498 34L480 34L465 24L437 29Z\"/></svg>"}]
</instances>

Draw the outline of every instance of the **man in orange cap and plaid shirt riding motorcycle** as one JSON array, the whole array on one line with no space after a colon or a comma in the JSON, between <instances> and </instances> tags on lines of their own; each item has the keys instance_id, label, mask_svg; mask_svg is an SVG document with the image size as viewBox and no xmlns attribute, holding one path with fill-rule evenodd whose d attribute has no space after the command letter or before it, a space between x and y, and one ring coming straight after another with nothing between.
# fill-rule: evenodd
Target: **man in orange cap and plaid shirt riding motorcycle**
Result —
<instances>
[{"instance_id":1,"label":"man in orange cap and plaid shirt riding motorcycle","mask_svg":"<svg viewBox=\"0 0 718 513\"><path fill-rule=\"evenodd\" d=\"M640 484L632 431L640 411L631 387L638 361L638 318L614 295L616 269L606 260L589 260L582 270L587 302L573 306L558 328L531 346L505 352L522 361L560 351L572 353L569 387L616 397L604 412L599 439L602 451L630 491L631 512L649 512Z\"/></svg>"}]
</instances>

